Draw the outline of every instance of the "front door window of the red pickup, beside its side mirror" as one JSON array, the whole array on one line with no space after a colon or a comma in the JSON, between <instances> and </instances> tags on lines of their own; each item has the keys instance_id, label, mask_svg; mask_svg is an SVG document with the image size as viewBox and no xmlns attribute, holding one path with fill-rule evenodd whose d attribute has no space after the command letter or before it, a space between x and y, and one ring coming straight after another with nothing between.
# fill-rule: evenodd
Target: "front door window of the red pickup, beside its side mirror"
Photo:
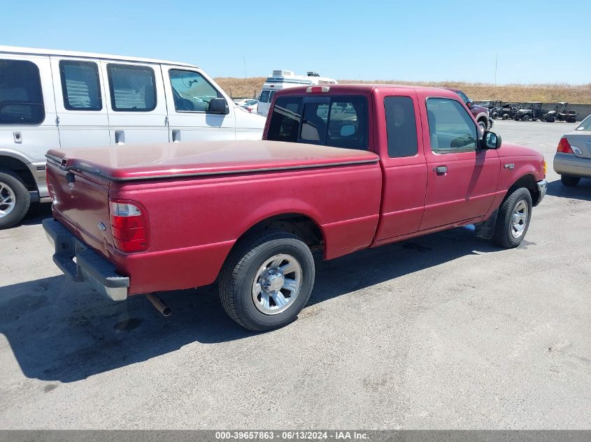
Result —
<instances>
[{"instance_id":1,"label":"front door window of the red pickup, beside its side mirror","mask_svg":"<svg viewBox=\"0 0 591 442\"><path fill-rule=\"evenodd\" d=\"M427 98L427 117L433 152L450 154L476 149L476 124L458 101Z\"/></svg>"}]
</instances>

